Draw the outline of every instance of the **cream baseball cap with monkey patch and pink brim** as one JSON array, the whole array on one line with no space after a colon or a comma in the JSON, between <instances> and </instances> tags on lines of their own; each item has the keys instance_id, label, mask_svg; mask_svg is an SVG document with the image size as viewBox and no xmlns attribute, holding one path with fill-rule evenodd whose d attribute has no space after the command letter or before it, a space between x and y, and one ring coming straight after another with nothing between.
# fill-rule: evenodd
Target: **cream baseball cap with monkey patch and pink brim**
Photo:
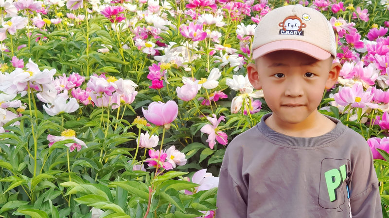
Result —
<instances>
[{"instance_id":1,"label":"cream baseball cap with monkey patch and pink brim","mask_svg":"<svg viewBox=\"0 0 389 218\"><path fill-rule=\"evenodd\" d=\"M318 60L335 58L335 33L317 10L287 5L262 17L255 29L252 50L254 59L278 50L300 51Z\"/></svg>"}]
</instances>

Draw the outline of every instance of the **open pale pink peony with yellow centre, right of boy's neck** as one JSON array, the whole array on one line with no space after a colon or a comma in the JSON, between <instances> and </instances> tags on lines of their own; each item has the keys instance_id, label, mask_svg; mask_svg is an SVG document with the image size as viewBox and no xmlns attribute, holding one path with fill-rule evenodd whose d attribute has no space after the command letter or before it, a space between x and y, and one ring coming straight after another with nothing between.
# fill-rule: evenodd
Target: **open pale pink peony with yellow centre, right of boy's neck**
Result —
<instances>
[{"instance_id":1,"label":"open pale pink peony with yellow centre, right of boy's neck","mask_svg":"<svg viewBox=\"0 0 389 218\"><path fill-rule=\"evenodd\" d=\"M377 104L371 103L374 94L371 88L363 92L363 87L359 83L355 83L352 88L339 87L339 92L335 94L334 99L337 104L347 106L351 104L354 108L365 108L366 106L372 109L378 108Z\"/></svg>"}]
</instances>

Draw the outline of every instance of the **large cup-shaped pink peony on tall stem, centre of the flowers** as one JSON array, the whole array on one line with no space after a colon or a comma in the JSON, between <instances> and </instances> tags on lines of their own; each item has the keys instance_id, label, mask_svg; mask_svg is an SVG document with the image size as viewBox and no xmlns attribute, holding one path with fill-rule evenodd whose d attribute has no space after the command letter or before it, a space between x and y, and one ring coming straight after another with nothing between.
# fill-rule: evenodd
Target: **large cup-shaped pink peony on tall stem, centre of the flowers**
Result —
<instances>
[{"instance_id":1,"label":"large cup-shaped pink peony on tall stem, centre of the flowers","mask_svg":"<svg viewBox=\"0 0 389 218\"><path fill-rule=\"evenodd\" d=\"M170 127L178 115L178 106L175 101L168 101L166 103L162 102L152 102L148 109L143 109L143 116L149 122L154 125L164 125L165 128Z\"/></svg>"}]
</instances>

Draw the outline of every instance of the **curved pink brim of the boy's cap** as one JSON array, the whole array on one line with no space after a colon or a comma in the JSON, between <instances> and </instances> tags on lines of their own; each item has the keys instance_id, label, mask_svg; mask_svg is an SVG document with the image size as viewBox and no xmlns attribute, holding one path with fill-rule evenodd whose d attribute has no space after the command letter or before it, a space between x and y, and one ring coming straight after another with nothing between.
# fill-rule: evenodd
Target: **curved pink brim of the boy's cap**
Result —
<instances>
[{"instance_id":1,"label":"curved pink brim of the boy's cap","mask_svg":"<svg viewBox=\"0 0 389 218\"><path fill-rule=\"evenodd\" d=\"M257 59L267 53L279 50L300 51L318 60L325 60L331 57L331 54L328 51L325 51L310 43L298 40L280 40L267 43L261 47L254 49L254 51L252 52L252 56L253 59Z\"/></svg>"}]
</instances>

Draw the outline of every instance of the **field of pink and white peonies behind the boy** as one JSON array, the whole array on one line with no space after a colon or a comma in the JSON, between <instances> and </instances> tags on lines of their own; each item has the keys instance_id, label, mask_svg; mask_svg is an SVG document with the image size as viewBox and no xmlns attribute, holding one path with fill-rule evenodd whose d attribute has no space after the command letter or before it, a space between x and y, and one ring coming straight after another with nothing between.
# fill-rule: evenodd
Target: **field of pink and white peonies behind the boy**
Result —
<instances>
[{"instance_id":1,"label":"field of pink and white peonies behind the boy","mask_svg":"<svg viewBox=\"0 0 389 218\"><path fill-rule=\"evenodd\" d=\"M270 112L254 28L297 3L336 32L319 111L368 141L388 217L389 0L0 0L0 217L214 217L226 146Z\"/></svg>"}]
</instances>

